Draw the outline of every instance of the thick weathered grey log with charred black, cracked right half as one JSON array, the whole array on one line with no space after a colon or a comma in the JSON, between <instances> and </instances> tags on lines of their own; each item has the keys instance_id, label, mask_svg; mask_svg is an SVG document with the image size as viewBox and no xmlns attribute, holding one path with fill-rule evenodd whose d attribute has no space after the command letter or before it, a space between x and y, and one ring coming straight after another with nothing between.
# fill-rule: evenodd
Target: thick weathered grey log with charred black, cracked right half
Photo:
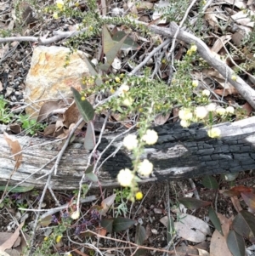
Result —
<instances>
[{"instance_id":1,"label":"thick weathered grey log with charred black, cracked right half","mask_svg":"<svg viewBox=\"0 0 255 256\"><path fill-rule=\"evenodd\" d=\"M221 139L210 139L206 129L197 124L190 128L181 128L176 123L156 127L158 142L146 148L143 156L153 162L154 173L142 182L235 173L255 168L255 117L233 123L226 122L218 125L218 128L222 133ZM105 135L99 145L99 151L103 151L115 136L116 134ZM21 185L44 186L47 176L38 178L48 174L53 166L54 162L47 166L45 164L58 154L59 143L41 145L49 140L19 136L16 138L25 151L20 168L11 176L10 185L23 181ZM88 161L88 151L82 148L82 139L80 140L70 145L65 152L58 174L53 175L51 179L53 189L77 188ZM120 143L122 138L116 139L104 157L115 151ZM31 145L38 146L31 148ZM0 148L0 183L4 185L13 172L14 160L10 157L10 150L3 139L3 134L0 134ZM118 171L122 168L131 168L131 163L132 156L122 148L99 170L101 185L117 185Z\"/></svg>"}]
</instances>

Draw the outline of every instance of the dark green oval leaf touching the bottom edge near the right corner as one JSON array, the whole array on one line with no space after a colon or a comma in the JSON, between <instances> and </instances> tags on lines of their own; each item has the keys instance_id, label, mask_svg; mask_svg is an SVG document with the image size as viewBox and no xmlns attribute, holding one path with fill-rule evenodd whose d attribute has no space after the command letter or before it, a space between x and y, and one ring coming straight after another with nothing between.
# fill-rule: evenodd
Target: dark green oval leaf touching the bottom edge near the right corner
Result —
<instances>
[{"instance_id":1,"label":"dark green oval leaf touching the bottom edge near the right corner","mask_svg":"<svg viewBox=\"0 0 255 256\"><path fill-rule=\"evenodd\" d=\"M229 230L227 244L229 251L233 254L233 256L243 256L246 254L246 247L243 237L236 233L235 230Z\"/></svg>"}]
</instances>

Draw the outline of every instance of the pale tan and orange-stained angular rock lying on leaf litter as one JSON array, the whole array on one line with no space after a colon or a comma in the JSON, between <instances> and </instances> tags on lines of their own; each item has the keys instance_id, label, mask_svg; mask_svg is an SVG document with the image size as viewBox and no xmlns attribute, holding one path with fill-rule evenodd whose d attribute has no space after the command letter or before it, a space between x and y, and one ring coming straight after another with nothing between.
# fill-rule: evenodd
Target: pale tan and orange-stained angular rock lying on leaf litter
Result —
<instances>
[{"instance_id":1,"label":"pale tan and orange-stained angular rock lying on leaf litter","mask_svg":"<svg viewBox=\"0 0 255 256\"><path fill-rule=\"evenodd\" d=\"M69 65L65 60L69 48L38 46L31 58L31 68L26 77L25 100L29 104L26 113L37 117L40 106L46 100L70 98L71 87L82 89L82 77L90 76L88 65L77 51L70 55Z\"/></svg>"}]
</instances>

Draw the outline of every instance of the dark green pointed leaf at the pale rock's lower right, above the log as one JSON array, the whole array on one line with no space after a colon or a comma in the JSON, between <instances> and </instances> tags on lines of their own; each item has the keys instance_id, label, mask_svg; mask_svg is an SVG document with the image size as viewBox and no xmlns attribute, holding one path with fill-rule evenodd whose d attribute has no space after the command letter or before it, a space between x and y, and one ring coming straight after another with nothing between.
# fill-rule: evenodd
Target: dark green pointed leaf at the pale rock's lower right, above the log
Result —
<instances>
[{"instance_id":1,"label":"dark green pointed leaf at the pale rock's lower right, above the log","mask_svg":"<svg viewBox=\"0 0 255 256\"><path fill-rule=\"evenodd\" d=\"M81 94L77 91L76 88L71 87L71 91L73 93L74 99L77 104L77 108L81 113L85 122L90 122L94 119L94 108L88 102L88 100L82 100Z\"/></svg>"}]
</instances>

